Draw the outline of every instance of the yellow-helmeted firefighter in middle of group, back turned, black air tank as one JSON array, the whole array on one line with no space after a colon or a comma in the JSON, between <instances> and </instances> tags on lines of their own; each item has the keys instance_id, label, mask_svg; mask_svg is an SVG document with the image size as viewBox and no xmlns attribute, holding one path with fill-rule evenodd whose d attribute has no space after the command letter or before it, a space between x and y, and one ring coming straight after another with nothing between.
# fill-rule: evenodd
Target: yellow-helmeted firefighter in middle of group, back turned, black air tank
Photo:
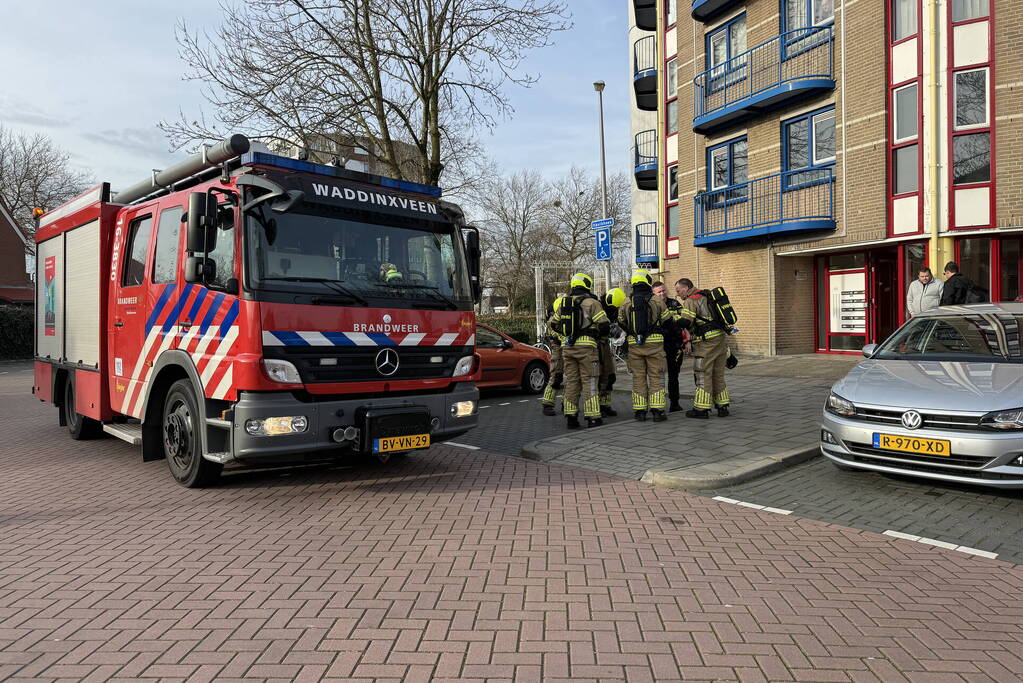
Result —
<instances>
[{"instance_id":1,"label":"yellow-helmeted firefighter in middle of group, back turned, black air tank","mask_svg":"<svg viewBox=\"0 0 1023 683\"><path fill-rule=\"evenodd\" d=\"M655 422L668 419L664 412L664 327L673 314L661 297L655 297L650 273L632 273L632 295L618 311L619 323L628 334L629 371L632 373L632 410L636 420L647 419L650 409Z\"/></svg>"}]
</instances>

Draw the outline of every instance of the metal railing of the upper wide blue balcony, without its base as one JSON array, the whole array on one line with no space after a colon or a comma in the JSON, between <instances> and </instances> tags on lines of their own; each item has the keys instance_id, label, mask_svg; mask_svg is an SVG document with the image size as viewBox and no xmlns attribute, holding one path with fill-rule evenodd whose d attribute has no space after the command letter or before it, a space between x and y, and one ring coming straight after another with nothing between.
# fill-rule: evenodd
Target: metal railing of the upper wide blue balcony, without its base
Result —
<instances>
[{"instance_id":1,"label":"metal railing of the upper wide blue balcony, without its base","mask_svg":"<svg viewBox=\"0 0 1023 683\"><path fill-rule=\"evenodd\" d=\"M832 27L786 31L693 80L700 118L799 79L834 78Z\"/></svg>"}]
</instances>

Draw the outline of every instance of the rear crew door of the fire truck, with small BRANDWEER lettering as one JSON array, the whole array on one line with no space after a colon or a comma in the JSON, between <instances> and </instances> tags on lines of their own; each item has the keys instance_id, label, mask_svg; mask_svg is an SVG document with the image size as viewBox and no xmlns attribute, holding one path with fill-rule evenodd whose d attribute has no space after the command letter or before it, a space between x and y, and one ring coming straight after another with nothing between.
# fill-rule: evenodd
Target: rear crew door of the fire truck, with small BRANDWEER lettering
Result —
<instances>
[{"instance_id":1,"label":"rear crew door of the fire truck, with small BRANDWEER lettering","mask_svg":"<svg viewBox=\"0 0 1023 683\"><path fill-rule=\"evenodd\" d=\"M155 204L140 207L118 219L110 262L107 346L110 368L110 406L120 413L139 415L135 404L144 379L146 318L157 299L149 286L149 263L155 223Z\"/></svg>"}]
</instances>

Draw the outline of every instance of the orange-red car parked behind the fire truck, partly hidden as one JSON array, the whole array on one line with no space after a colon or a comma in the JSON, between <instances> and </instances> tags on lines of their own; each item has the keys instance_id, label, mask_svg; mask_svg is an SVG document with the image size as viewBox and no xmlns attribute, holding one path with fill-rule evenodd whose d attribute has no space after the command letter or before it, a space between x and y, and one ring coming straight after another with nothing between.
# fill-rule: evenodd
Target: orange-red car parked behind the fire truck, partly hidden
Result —
<instances>
[{"instance_id":1,"label":"orange-red car parked behind the fire truck, partly hidden","mask_svg":"<svg viewBox=\"0 0 1023 683\"><path fill-rule=\"evenodd\" d=\"M550 354L487 325L476 325L476 351L480 354L483 374L477 386L521 386L529 394L539 394L550 375Z\"/></svg>"}]
</instances>

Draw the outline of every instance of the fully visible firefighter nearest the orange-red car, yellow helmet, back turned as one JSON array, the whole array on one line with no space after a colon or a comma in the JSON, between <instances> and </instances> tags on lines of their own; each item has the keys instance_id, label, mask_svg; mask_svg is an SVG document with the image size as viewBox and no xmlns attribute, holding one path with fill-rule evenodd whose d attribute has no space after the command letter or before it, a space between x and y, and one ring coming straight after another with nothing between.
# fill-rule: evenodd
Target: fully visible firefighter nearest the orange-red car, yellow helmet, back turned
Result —
<instances>
[{"instance_id":1,"label":"fully visible firefighter nearest the orange-red car, yellow helmet, back turned","mask_svg":"<svg viewBox=\"0 0 1023 683\"><path fill-rule=\"evenodd\" d=\"M593 280L585 273L572 276L572 290L564 297L558 313L551 317L554 329L565 339L562 358L565 363L565 418L570 429L579 428L579 414L586 426L604 424L596 382L596 340L606 335L611 324L601 301L593 295Z\"/></svg>"}]
</instances>

